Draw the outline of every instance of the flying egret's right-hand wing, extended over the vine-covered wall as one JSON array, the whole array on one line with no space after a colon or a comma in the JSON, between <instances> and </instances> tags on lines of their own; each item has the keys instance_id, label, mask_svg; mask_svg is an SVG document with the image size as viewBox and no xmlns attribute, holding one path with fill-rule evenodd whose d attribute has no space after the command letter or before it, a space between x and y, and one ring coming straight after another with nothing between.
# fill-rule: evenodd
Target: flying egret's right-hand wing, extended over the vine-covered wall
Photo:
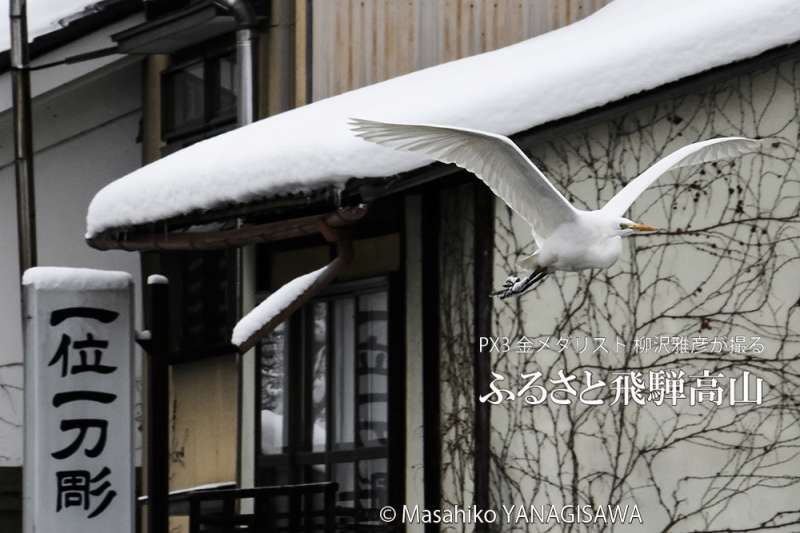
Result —
<instances>
[{"instance_id":1,"label":"flying egret's right-hand wing, extended over the vine-covered wall","mask_svg":"<svg viewBox=\"0 0 800 533\"><path fill-rule=\"evenodd\" d=\"M622 216L645 189L668 171L719 159L732 159L758 150L762 142L746 137L721 137L684 146L658 160L652 167L623 187L603 206L603 211Z\"/></svg>"}]
</instances>

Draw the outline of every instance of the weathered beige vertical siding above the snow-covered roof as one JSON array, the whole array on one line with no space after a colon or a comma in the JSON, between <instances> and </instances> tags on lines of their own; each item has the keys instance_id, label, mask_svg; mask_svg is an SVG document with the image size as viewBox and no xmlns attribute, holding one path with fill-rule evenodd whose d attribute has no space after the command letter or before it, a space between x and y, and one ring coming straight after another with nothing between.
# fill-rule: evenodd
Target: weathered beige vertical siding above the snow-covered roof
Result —
<instances>
[{"instance_id":1,"label":"weathered beige vertical siding above the snow-covered roof","mask_svg":"<svg viewBox=\"0 0 800 533\"><path fill-rule=\"evenodd\" d=\"M319 100L565 26L610 0L313 0Z\"/></svg>"}]
</instances>

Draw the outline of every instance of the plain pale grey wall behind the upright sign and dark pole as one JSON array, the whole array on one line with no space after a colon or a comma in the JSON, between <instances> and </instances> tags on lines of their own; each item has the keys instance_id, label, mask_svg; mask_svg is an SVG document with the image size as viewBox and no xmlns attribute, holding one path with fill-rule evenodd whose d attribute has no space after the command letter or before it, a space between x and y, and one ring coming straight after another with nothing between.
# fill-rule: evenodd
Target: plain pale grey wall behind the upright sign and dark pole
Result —
<instances>
[{"instance_id":1,"label":"plain pale grey wall behind the upright sign and dark pole","mask_svg":"<svg viewBox=\"0 0 800 533\"><path fill-rule=\"evenodd\" d=\"M125 270L138 254L99 252L84 241L89 201L141 165L138 63L106 66L34 101L39 264ZM35 82L35 80L34 80ZM3 91L10 91L4 86ZM5 95L0 95L0 101ZM22 339L11 113L0 114L0 466L22 462ZM140 292L135 291L137 297ZM137 302L136 308L141 309Z\"/></svg>"}]
</instances>

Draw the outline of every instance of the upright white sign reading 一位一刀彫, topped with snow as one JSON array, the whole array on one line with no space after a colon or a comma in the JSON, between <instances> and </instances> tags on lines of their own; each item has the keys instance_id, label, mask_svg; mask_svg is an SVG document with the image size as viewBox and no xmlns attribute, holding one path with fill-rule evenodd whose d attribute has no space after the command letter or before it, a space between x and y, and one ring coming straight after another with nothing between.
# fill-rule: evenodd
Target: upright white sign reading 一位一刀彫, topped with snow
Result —
<instances>
[{"instance_id":1,"label":"upright white sign reading \u4e00\u4f4d\u4e00\u5200\u5f6b, topped with snow","mask_svg":"<svg viewBox=\"0 0 800 533\"><path fill-rule=\"evenodd\" d=\"M33 268L25 310L25 533L133 532L133 283Z\"/></svg>"}]
</instances>

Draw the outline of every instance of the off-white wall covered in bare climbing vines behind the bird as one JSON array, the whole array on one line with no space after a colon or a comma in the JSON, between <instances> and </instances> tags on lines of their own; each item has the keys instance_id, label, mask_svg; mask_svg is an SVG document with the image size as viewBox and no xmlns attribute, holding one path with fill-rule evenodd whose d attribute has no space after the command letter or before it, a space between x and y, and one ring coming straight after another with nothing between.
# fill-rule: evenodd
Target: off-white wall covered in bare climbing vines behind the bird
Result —
<instances>
[{"instance_id":1,"label":"off-white wall covered in bare climbing vines behind the bird","mask_svg":"<svg viewBox=\"0 0 800 533\"><path fill-rule=\"evenodd\" d=\"M519 390L527 383L521 373L541 372L537 385L563 389L547 382L559 370L578 377L578 391L586 370L607 387L600 406L575 398L570 406L522 398L492 406L495 506L639 505L644 528L637 521L608 531L797 530L791 513L778 513L794 512L800 494L798 87L798 63L786 62L532 147L576 205L595 209L683 145L726 135L773 138L760 153L664 176L627 216L666 232L626 239L608 271L557 274L496 305L494 334L512 339L512 351L493 358L506 378L498 387ZM500 285L535 248L518 217L501 203L497 212ZM523 334L528 347L513 342ZM635 338L664 335L760 337L765 350L633 350ZM595 350L595 337L606 339L607 351ZM539 350L542 342L549 347ZM690 407L688 398L676 408L609 405L617 372L667 369L685 371L687 385L704 369L722 373L726 389L727 378L750 371L765 380L763 404L729 407L726 391L720 407ZM597 530L553 529L567 527ZM503 530L543 529L520 523Z\"/></svg>"}]
</instances>

